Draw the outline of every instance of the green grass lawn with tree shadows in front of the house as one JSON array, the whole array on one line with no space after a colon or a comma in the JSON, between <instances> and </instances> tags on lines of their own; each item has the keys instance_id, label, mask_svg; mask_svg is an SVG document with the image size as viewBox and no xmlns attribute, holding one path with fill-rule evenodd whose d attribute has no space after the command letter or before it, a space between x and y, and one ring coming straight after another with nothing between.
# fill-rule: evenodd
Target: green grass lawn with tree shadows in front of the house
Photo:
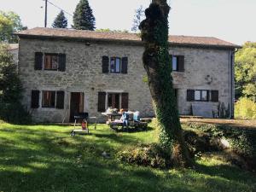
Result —
<instances>
[{"instance_id":1,"label":"green grass lawn with tree shadows in front of the house","mask_svg":"<svg viewBox=\"0 0 256 192\"><path fill-rule=\"evenodd\" d=\"M253 173L230 166L219 154L204 155L195 170L163 171L115 160L122 148L154 142L153 130L115 133L98 125L89 136L71 137L72 128L0 123L0 192L256 190Z\"/></svg>"}]
</instances>

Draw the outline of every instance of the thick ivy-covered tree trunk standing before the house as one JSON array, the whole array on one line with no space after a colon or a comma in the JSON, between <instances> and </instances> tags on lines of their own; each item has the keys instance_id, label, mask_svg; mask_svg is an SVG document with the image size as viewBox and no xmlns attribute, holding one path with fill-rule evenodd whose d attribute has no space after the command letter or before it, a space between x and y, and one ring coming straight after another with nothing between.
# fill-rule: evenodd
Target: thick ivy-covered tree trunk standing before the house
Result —
<instances>
[{"instance_id":1,"label":"thick ivy-covered tree trunk standing before the house","mask_svg":"<svg viewBox=\"0 0 256 192\"><path fill-rule=\"evenodd\" d=\"M153 0L145 10L146 19L140 25L145 47L143 66L148 74L148 86L160 122L160 143L167 148L172 146L175 166L191 166L172 87L172 61L168 52L169 10L166 0Z\"/></svg>"}]
</instances>

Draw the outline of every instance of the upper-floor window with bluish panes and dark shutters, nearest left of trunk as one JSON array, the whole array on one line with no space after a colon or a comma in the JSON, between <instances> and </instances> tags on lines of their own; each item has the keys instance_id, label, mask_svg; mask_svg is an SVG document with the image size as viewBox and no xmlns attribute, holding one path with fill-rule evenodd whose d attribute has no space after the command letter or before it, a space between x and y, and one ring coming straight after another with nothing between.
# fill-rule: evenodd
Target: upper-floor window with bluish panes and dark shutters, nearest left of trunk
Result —
<instances>
[{"instance_id":1,"label":"upper-floor window with bluish panes and dark shutters, nearest left of trunk","mask_svg":"<svg viewBox=\"0 0 256 192\"><path fill-rule=\"evenodd\" d=\"M102 56L102 73L127 73L128 58Z\"/></svg>"}]
</instances>

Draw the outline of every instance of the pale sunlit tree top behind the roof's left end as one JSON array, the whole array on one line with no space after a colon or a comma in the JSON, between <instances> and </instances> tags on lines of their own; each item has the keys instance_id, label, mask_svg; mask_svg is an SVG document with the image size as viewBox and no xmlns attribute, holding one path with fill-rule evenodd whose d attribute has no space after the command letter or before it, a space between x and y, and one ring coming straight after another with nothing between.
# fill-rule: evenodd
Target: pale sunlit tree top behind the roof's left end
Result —
<instances>
[{"instance_id":1,"label":"pale sunlit tree top behind the roof's left end","mask_svg":"<svg viewBox=\"0 0 256 192\"><path fill-rule=\"evenodd\" d=\"M0 11L0 42L17 43L18 38L13 33L23 29L26 26L22 26L19 15L12 11Z\"/></svg>"}]
</instances>

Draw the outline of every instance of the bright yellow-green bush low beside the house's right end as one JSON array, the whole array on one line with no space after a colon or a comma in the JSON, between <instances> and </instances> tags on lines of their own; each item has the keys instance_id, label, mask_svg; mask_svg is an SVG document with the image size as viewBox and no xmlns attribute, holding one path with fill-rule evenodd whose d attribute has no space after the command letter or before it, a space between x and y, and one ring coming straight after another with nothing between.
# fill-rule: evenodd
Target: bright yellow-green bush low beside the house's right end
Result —
<instances>
[{"instance_id":1,"label":"bright yellow-green bush low beside the house's right end","mask_svg":"<svg viewBox=\"0 0 256 192\"><path fill-rule=\"evenodd\" d=\"M256 119L256 103L243 97L235 105L235 116L241 119Z\"/></svg>"}]
</instances>

